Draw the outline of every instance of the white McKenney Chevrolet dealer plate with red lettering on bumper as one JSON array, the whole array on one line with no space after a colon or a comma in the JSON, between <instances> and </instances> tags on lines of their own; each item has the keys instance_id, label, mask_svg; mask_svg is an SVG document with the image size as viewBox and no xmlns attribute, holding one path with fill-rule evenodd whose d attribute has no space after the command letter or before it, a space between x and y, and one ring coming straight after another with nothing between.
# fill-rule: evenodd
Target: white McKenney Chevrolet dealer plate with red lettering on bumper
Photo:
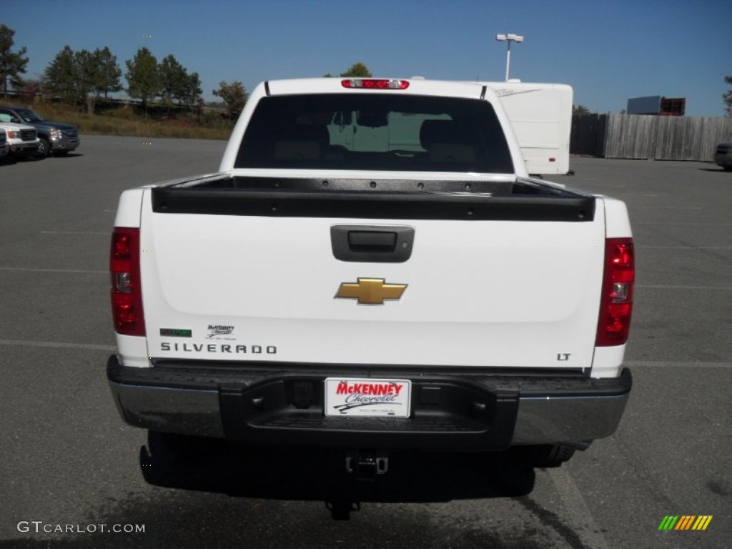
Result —
<instances>
[{"instance_id":1,"label":"white McKenney Chevrolet dealer plate with red lettering on bumper","mask_svg":"<svg viewBox=\"0 0 732 549\"><path fill-rule=\"evenodd\" d=\"M325 415L409 417L408 379L326 378Z\"/></svg>"}]
</instances>

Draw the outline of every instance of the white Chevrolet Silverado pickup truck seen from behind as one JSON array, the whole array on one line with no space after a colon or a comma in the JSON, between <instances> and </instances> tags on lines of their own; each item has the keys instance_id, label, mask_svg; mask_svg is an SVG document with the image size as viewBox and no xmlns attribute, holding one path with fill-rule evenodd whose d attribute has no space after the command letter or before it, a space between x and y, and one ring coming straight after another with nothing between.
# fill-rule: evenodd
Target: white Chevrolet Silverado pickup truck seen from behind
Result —
<instances>
[{"instance_id":1,"label":"white Chevrolet Silverado pickup truck seen from behind","mask_svg":"<svg viewBox=\"0 0 732 549\"><path fill-rule=\"evenodd\" d=\"M124 420L337 447L359 477L395 449L558 466L612 434L632 384L627 210L529 178L493 87L265 82L219 173L125 191Z\"/></svg>"}]
</instances>

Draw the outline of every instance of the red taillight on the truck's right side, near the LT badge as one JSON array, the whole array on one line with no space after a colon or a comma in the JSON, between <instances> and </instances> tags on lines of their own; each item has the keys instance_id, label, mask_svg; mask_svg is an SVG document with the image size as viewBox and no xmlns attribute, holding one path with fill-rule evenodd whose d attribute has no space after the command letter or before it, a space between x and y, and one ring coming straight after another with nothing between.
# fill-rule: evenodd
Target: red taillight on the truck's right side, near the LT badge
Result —
<instances>
[{"instance_id":1,"label":"red taillight on the truck's right side, near the LT badge","mask_svg":"<svg viewBox=\"0 0 732 549\"><path fill-rule=\"evenodd\" d=\"M633 239L605 240L605 275L602 278L600 320L595 345L622 345L628 339L633 309L635 254Z\"/></svg>"}]
</instances>

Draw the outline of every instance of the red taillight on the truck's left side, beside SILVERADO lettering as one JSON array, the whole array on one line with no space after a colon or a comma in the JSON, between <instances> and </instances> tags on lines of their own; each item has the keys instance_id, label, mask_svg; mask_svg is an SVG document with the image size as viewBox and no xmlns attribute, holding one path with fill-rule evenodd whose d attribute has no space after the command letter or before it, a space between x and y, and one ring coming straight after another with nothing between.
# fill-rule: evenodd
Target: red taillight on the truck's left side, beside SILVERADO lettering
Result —
<instances>
[{"instance_id":1,"label":"red taillight on the truck's left side, beside SILVERADO lettering","mask_svg":"<svg viewBox=\"0 0 732 549\"><path fill-rule=\"evenodd\" d=\"M114 329L123 335L145 335L140 284L140 229L114 229L109 271Z\"/></svg>"}]
</instances>

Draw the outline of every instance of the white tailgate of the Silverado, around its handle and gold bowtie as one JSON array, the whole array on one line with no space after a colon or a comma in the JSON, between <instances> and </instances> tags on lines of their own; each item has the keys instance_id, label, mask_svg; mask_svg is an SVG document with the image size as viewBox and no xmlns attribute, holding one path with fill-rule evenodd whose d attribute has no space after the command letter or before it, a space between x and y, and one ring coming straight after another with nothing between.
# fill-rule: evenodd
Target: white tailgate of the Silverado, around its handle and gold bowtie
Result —
<instances>
[{"instance_id":1,"label":"white tailgate of the Silverado, around its handle and gold bowtie","mask_svg":"<svg viewBox=\"0 0 732 549\"><path fill-rule=\"evenodd\" d=\"M591 366L601 199L577 222L164 212L151 193L141 272L152 359ZM341 261L334 225L412 228L411 257ZM383 305L336 297L343 284L358 294L359 279L406 288Z\"/></svg>"}]
</instances>

